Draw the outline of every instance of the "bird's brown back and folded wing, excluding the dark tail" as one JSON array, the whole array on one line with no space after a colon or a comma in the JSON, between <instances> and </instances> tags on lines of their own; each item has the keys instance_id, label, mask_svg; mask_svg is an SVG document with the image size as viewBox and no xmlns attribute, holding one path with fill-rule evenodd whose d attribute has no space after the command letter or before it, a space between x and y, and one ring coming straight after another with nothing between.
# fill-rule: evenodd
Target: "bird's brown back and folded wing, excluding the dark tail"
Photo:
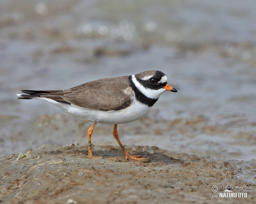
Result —
<instances>
[{"instance_id":1,"label":"bird's brown back and folded wing, excluding the dark tail","mask_svg":"<svg viewBox=\"0 0 256 204\"><path fill-rule=\"evenodd\" d=\"M68 90L62 98L73 105L101 111L117 111L131 105L128 77L99 79Z\"/></svg>"}]
</instances>

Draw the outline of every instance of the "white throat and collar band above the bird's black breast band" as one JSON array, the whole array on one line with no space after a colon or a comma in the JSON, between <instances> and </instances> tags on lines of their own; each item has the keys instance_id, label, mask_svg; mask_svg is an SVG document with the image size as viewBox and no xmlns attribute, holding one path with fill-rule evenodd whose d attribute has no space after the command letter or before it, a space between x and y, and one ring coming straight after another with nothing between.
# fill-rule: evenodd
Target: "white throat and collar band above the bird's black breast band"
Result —
<instances>
[{"instance_id":1,"label":"white throat and collar band above the bird's black breast band","mask_svg":"<svg viewBox=\"0 0 256 204\"><path fill-rule=\"evenodd\" d=\"M165 88L160 88L157 90L145 88L140 82L137 81L135 75L131 76L131 80L134 82L134 85L137 87L137 89L150 99L158 99L163 94L163 92L166 91Z\"/></svg>"}]
</instances>

